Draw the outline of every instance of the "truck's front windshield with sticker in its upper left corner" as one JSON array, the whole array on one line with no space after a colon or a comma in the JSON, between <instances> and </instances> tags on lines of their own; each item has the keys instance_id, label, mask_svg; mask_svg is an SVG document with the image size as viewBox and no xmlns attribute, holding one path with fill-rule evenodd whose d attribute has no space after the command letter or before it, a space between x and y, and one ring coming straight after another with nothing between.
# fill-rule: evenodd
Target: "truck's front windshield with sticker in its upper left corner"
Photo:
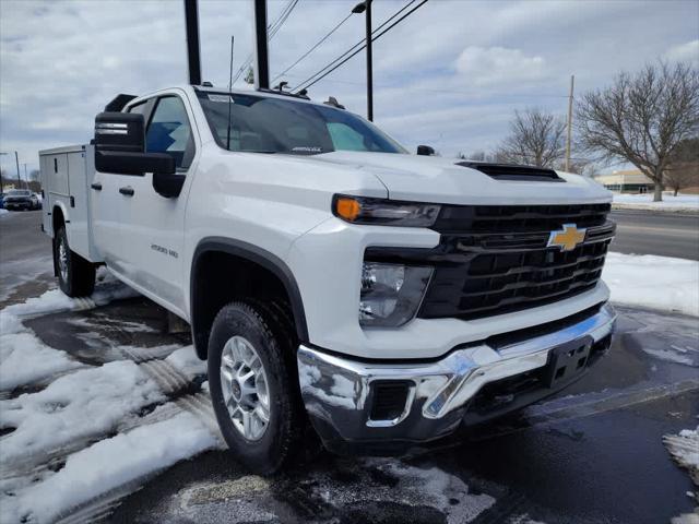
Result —
<instances>
[{"instance_id":1,"label":"truck's front windshield with sticker in its upper left corner","mask_svg":"<svg viewBox=\"0 0 699 524\"><path fill-rule=\"evenodd\" d=\"M334 107L247 94L198 95L216 142L225 150L292 155L332 151L407 153L376 126Z\"/></svg>"}]
</instances>

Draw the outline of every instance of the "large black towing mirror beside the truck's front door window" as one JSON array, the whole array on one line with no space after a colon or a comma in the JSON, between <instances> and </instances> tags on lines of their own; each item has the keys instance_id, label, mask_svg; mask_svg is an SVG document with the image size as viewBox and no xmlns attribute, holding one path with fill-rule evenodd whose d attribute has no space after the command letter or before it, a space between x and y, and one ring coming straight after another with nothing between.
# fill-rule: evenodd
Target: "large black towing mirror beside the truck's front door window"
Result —
<instances>
[{"instance_id":1,"label":"large black towing mirror beside the truck's front door window","mask_svg":"<svg viewBox=\"0 0 699 524\"><path fill-rule=\"evenodd\" d=\"M100 112L95 118L95 169L102 172L143 176L175 172L175 158L145 153L145 124L137 112Z\"/></svg>"}]
</instances>

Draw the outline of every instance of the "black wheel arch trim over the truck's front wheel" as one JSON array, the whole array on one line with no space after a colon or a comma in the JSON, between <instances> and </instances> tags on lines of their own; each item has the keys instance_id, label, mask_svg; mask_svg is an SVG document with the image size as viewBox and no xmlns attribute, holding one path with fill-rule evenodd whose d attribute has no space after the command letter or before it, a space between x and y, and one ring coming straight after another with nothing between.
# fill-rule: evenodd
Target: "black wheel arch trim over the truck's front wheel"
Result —
<instances>
[{"instance_id":1,"label":"black wheel arch trim over the truck's front wheel","mask_svg":"<svg viewBox=\"0 0 699 524\"><path fill-rule=\"evenodd\" d=\"M253 266L261 267L274 275L283 286L288 298L294 317L294 327L300 342L308 341L308 326L304 301L296 278L286 263L275 254L258 246L225 237L209 237L202 239L194 250L190 274L190 323L192 341L197 355L206 358L209 333L213 317L203 307L205 290L199 286L203 262L206 255L222 254L234 257Z\"/></svg>"}]
</instances>

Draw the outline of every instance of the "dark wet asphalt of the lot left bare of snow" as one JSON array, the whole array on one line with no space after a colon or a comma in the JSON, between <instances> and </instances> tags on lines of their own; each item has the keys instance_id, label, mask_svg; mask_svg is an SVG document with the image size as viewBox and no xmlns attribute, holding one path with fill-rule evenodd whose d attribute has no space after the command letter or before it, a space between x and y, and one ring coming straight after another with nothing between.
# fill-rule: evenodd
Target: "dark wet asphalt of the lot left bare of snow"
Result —
<instances>
[{"instance_id":1,"label":"dark wet asphalt of the lot left bare of snow","mask_svg":"<svg viewBox=\"0 0 699 524\"><path fill-rule=\"evenodd\" d=\"M0 218L0 289L12 289L0 307L55 287L38 221L37 212ZM627 241L624 229L618 239ZM699 325L618 310L608 355L557 397L520 414L401 458L337 457L309 433L293 467L266 479L225 451L206 452L150 479L110 522L667 523L697 505L688 496L697 488L662 437L698 424ZM133 322L151 331L133 332ZM165 312L144 298L25 323L87 364L122 358L110 353L117 345L189 343L187 334L166 334ZM94 333L104 347L87 338Z\"/></svg>"}]
</instances>

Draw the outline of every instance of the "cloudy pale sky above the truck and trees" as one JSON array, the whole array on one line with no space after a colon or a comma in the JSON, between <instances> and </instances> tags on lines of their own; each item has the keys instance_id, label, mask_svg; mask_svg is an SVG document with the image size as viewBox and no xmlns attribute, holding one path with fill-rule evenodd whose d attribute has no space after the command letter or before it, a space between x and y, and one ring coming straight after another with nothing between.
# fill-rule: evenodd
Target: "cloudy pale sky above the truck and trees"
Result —
<instances>
[{"instance_id":1,"label":"cloudy pale sky above the truck and trees","mask_svg":"<svg viewBox=\"0 0 699 524\"><path fill-rule=\"evenodd\" d=\"M270 22L288 0L270 0ZM270 43L272 75L286 69L356 3L300 0ZM407 0L375 0L379 25ZM251 51L251 0L200 0L204 80L227 85ZM358 41L353 15L292 69L295 85ZM697 0L430 0L375 44L375 121L399 141L445 155L491 150L514 109L565 115L576 92L659 58L699 66ZM118 93L187 82L181 0L0 0L0 157L28 169L37 151L90 140L95 114ZM365 56L310 90L365 115Z\"/></svg>"}]
</instances>

